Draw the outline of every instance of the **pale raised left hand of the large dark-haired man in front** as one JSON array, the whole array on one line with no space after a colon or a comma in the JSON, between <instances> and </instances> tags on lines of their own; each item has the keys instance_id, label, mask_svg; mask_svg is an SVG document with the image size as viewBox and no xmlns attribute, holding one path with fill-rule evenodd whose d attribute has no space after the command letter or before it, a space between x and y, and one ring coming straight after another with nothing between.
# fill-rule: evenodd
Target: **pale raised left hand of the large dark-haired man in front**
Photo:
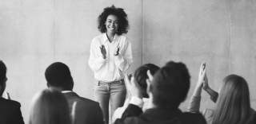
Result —
<instances>
[{"instance_id":1,"label":"pale raised left hand of the large dark-haired man in front","mask_svg":"<svg viewBox=\"0 0 256 124\"><path fill-rule=\"evenodd\" d=\"M134 77L131 77L131 79L129 79L129 76L126 74L125 83L126 83L126 89L127 91L130 92L131 96L136 96L142 99L142 90L138 86L138 83L134 81Z\"/></svg>"}]
</instances>

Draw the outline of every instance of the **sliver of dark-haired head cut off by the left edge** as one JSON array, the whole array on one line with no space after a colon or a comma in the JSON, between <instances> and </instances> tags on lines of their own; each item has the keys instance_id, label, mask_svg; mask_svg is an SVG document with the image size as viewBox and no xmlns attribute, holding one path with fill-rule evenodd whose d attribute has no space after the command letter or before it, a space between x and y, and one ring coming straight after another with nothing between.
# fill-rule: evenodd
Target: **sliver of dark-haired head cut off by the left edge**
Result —
<instances>
[{"instance_id":1,"label":"sliver of dark-haired head cut off by the left edge","mask_svg":"<svg viewBox=\"0 0 256 124\"><path fill-rule=\"evenodd\" d=\"M7 81L6 72L7 72L6 64L4 64L2 60L0 60L0 96L2 96L3 91L5 91L6 89L6 81Z\"/></svg>"}]
</instances>

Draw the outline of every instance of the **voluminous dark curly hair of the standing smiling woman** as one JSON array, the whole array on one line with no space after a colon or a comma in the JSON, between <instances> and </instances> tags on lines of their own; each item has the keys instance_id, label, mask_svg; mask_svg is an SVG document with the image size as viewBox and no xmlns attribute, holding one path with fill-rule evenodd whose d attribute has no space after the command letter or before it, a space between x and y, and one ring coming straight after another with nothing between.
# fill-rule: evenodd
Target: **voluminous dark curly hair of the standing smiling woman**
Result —
<instances>
[{"instance_id":1,"label":"voluminous dark curly hair of the standing smiling woman","mask_svg":"<svg viewBox=\"0 0 256 124\"><path fill-rule=\"evenodd\" d=\"M128 29L130 29L129 22L127 19L127 14L122 8L116 8L114 5L111 7L106 7L102 14L98 16L98 30L101 33L106 33L106 18L109 15L115 15L118 17L118 35L126 34Z\"/></svg>"}]
</instances>

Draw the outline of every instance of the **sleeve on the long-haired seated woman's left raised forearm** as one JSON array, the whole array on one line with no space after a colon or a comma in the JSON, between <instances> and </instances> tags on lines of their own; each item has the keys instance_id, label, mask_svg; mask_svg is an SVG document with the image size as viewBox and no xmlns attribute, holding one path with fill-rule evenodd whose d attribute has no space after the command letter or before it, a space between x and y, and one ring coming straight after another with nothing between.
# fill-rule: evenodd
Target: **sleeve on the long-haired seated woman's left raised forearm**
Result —
<instances>
[{"instance_id":1,"label":"sleeve on the long-haired seated woman's left raised forearm","mask_svg":"<svg viewBox=\"0 0 256 124\"><path fill-rule=\"evenodd\" d=\"M200 109L201 96L196 97L194 95L190 98L189 106L187 107L187 111L191 113L198 113Z\"/></svg>"}]
</instances>

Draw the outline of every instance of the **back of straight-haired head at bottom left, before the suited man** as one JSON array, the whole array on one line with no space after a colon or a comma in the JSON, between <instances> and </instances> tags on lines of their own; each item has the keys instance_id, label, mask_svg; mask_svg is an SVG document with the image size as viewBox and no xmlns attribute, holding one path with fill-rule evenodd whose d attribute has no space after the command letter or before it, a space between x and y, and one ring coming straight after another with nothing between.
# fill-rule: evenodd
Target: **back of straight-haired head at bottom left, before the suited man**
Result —
<instances>
[{"instance_id":1,"label":"back of straight-haired head at bottom left, before the suited man","mask_svg":"<svg viewBox=\"0 0 256 124\"><path fill-rule=\"evenodd\" d=\"M46 89L34 95L30 104L29 124L70 124L66 98L60 91Z\"/></svg>"}]
</instances>

